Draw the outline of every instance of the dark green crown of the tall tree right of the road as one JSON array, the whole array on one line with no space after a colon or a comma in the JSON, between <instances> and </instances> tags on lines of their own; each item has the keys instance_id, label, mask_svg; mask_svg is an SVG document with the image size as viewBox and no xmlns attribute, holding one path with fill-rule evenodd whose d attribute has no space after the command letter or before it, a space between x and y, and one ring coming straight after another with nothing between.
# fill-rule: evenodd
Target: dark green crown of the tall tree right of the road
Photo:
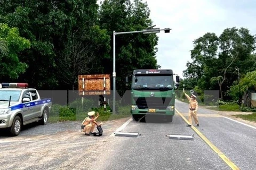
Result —
<instances>
[{"instance_id":1,"label":"dark green crown of the tall tree right of the road","mask_svg":"<svg viewBox=\"0 0 256 170\"><path fill-rule=\"evenodd\" d=\"M221 99L230 97L230 87L238 79L236 67L241 75L256 69L256 38L246 28L227 28L219 37L208 32L193 43L193 62L187 62L184 76L197 80L202 90L220 90Z\"/></svg>"}]
</instances>

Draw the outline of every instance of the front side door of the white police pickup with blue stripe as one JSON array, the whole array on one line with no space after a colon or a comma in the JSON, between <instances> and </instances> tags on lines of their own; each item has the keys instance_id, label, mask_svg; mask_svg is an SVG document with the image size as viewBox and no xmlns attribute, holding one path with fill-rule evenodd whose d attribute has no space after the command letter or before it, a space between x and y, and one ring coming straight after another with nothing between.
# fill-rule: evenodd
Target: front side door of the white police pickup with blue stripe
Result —
<instances>
[{"instance_id":1,"label":"front side door of the white police pickup with blue stripe","mask_svg":"<svg viewBox=\"0 0 256 170\"><path fill-rule=\"evenodd\" d=\"M29 98L30 101L22 102L23 98ZM32 116L33 108L31 108L31 96L30 96L29 90L26 90L23 92L21 102L23 104L23 107L21 108L23 112L23 121L28 121L31 118L33 118Z\"/></svg>"}]
</instances>

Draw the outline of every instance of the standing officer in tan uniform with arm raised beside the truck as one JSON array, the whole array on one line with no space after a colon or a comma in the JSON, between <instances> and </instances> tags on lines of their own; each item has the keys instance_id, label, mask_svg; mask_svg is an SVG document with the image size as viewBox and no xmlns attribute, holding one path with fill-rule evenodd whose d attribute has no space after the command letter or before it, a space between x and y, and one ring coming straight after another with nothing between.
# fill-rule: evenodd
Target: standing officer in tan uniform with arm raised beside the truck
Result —
<instances>
[{"instance_id":1,"label":"standing officer in tan uniform with arm raised beside the truck","mask_svg":"<svg viewBox=\"0 0 256 170\"><path fill-rule=\"evenodd\" d=\"M188 111L188 122L189 125L192 124L192 116L194 121L197 125L199 125L198 117L197 117L197 110L198 110L198 103L196 100L191 99L186 93L185 96L189 100L189 111Z\"/></svg>"}]
</instances>

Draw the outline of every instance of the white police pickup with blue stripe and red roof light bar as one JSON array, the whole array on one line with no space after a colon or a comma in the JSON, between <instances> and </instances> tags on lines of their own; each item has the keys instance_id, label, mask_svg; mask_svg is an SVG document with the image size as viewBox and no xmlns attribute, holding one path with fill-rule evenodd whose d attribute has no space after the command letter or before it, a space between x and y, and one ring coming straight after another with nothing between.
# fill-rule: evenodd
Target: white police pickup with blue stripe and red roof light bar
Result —
<instances>
[{"instance_id":1,"label":"white police pickup with blue stripe and red roof light bar","mask_svg":"<svg viewBox=\"0 0 256 170\"><path fill-rule=\"evenodd\" d=\"M22 125L38 121L45 125L51 107L51 99L41 99L28 83L0 84L0 129L9 129L12 136L19 135Z\"/></svg>"}]
</instances>

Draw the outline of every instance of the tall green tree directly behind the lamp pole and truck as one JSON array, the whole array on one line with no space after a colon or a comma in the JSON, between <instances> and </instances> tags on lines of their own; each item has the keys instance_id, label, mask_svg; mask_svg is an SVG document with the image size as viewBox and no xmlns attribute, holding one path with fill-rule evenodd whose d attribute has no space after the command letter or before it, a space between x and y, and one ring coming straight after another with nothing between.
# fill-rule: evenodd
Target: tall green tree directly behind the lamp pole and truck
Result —
<instances>
[{"instance_id":1,"label":"tall green tree directly behind the lamp pole and truck","mask_svg":"<svg viewBox=\"0 0 256 170\"><path fill-rule=\"evenodd\" d=\"M113 72L113 31L135 31L146 29L153 24L149 18L147 3L141 0L103 1L99 10L99 23L111 36L111 52L105 58L104 72ZM142 33L116 36L116 88L124 92L125 76L134 69L157 69L156 52L158 37L155 34Z\"/></svg>"}]
</instances>

